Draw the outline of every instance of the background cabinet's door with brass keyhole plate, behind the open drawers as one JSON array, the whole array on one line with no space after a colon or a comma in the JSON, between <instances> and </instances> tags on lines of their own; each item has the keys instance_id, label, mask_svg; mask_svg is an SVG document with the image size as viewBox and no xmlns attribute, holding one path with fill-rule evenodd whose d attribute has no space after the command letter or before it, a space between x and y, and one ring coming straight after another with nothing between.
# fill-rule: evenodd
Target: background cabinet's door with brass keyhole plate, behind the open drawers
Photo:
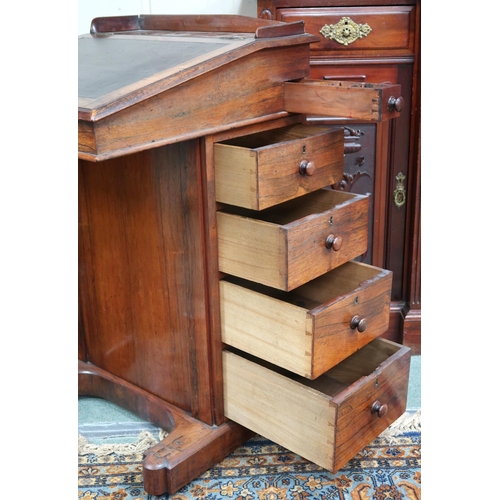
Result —
<instances>
[{"instance_id":1,"label":"background cabinet's door with brass keyhole plate, behind the open drawers","mask_svg":"<svg viewBox=\"0 0 500 500\"><path fill-rule=\"evenodd\" d=\"M330 61L311 61L311 78L364 81L367 83L394 83L401 85L401 95L405 106L388 131L387 154L380 144L380 127L368 123L329 120L326 117L310 117L311 123L338 123L349 127L359 135L356 140L361 149L354 154L345 155L344 177L335 185L358 194L372 194L369 216L369 245L363 262L390 269L394 272L392 300L401 301L404 297L404 252L406 232L406 210L408 204L408 162L411 120L411 77L413 64L347 64ZM395 204L395 191L404 189L406 200L401 206ZM375 219L385 229L374 231ZM380 226L379 226L380 227ZM380 249L381 259L373 259L374 249ZM380 254L378 250L375 254Z\"/></svg>"}]
</instances>

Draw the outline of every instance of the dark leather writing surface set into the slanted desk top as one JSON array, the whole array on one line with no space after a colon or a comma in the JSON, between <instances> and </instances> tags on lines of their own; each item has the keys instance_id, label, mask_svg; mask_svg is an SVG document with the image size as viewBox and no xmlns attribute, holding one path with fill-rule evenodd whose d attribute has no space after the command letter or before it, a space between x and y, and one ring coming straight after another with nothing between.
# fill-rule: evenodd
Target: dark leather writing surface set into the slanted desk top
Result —
<instances>
[{"instance_id":1,"label":"dark leather writing surface set into the slanted desk top","mask_svg":"<svg viewBox=\"0 0 500 500\"><path fill-rule=\"evenodd\" d=\"M227 41L78 40L78 95L98 98L227 45Z\"/></svg>"}]
</instances>

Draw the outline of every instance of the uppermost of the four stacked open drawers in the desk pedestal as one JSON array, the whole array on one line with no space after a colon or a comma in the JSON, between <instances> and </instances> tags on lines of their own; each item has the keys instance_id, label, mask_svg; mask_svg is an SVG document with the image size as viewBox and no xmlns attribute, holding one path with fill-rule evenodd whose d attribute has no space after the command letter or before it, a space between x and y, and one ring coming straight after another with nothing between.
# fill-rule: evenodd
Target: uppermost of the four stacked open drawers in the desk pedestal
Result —
<instances>
[{"instance_id":1,"label":"uppermost of the four stacked open drawers in the desk pedestal","mask_svg":"<svg viewBox=\"0 0 500 500\"><path fill-rule=\"evenodd\" d=\"M344 136L293 125L214 145L216 199L262 210L342 178Z\"/></svg>"}]
</instances>

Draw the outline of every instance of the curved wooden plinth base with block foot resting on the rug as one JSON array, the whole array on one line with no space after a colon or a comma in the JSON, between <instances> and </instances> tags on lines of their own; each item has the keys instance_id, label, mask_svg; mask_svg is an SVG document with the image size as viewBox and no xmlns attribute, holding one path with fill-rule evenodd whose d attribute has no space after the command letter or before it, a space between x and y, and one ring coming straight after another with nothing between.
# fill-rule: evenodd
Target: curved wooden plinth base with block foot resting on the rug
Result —
<instances>
[{"instance_id":1,"label":"curved wooden plinth base with block foot resting on the rug","mask_svg":"<svg viewBox=\"0 0 500 500\"><path fill-rule=\"evenodd\" d=\"M151 495L175 493L254 435L232 421L209 426L184 410L80 360L78 394L111 401L169 433L144 453L144 490Z\"/></svg>"}]
</instances>

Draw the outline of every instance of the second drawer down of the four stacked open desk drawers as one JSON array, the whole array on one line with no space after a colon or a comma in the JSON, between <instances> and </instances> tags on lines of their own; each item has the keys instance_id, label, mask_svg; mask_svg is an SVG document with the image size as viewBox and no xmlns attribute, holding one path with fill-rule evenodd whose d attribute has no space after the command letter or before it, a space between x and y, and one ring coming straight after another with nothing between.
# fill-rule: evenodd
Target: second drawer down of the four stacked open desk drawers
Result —
<instances>
[{"instance_id":1,"label":"second drawer down of the four stacked open desk drawers","mask_svg":"<svg viewBox=\"0 0 500 500\"><path fill-rule=\"evenodd\" d=\"M330 189L263 211L217 212L219 270L290 291L368 246L368 197Z\"/></svg>"}]
</instances>

